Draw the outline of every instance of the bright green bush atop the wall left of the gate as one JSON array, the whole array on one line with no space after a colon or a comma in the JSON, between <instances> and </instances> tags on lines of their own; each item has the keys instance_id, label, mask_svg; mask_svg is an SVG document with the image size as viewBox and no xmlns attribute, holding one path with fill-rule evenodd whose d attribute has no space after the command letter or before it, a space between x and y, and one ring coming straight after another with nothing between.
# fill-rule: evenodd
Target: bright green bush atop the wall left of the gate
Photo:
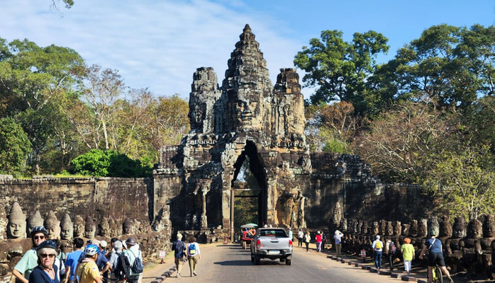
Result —
<instances>
[{"instance_id":1,"label":"bright green bush atop the wall left of the gate","mask_svg":"<svg viewBox=\"0 0 495 283\"><path fill-rule=\"evenodd\" d=\"M128 158L117 151L102 151L91 149L72 159L72 173L93 175L97 177L126 177L137 178L150 175L151 168L142 166L140 161Z\"/></svg>"}]
</instances>

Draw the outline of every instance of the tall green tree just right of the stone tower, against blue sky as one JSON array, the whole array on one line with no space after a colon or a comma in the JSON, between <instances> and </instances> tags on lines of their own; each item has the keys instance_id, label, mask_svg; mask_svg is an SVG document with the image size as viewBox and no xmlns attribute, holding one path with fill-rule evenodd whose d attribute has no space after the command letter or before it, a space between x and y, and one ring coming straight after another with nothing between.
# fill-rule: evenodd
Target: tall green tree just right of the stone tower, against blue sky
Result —
<instances>
[{"instance_id":1,"label":"tall green tree just right of the stone tower, against blue sky","mask_svg":"<svg viewBox=\"0 0 495 283\"><path fill-rule=\"evenodd\" d=\"M323 30L321 40L311 39L311 46L304 46L294 59L294 65L306 71L305 86L318 87L311 103L341 100L352 103L357 112L367 112L368 104L373 103L367 79L377 67L377 54L389 50L387 41L373 30L355 33L352 42L345 42L338 30Z\"/></svg>"}]
</instances>

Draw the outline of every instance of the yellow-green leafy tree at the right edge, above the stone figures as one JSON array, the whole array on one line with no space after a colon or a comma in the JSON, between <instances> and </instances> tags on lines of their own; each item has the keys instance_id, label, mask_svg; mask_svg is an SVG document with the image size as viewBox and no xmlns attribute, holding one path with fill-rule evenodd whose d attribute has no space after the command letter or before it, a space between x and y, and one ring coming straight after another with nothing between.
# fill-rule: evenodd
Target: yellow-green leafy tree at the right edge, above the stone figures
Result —
<instances>
[{"instance_id":1,"label":"yellow-green leafy tree at the right edge, above the stone figures","mask_svg":"<svg viewBox=\"0 0 495 283\"><path fill-rule=\"evenodd\" d=\"M495 206L493 156L486 148L451 151L435 162L423 185L452 216L477 219ZM488 161L488 162L487 162Z\"/></svg>"}]
</instances>

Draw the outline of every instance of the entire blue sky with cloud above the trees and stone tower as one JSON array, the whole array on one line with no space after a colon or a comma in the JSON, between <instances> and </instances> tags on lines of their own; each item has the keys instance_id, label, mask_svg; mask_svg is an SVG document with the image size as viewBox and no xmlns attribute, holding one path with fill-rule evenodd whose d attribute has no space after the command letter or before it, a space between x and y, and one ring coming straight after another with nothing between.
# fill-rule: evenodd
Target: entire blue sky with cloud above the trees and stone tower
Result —
<instances>
[{"instance_id":1,"label":"entire blue sky with cloud above the trees and stone tower","mask_svg":"<svg viewBox=\"0 0 495 283\"><path fill-rule=\"evenodd\" d=\"M495 1L240 1L75 0L50 10L51 0L1 0L0 37L71 47L89 64L118 69L131 88L188 98L192 74L213 67L223 79L238 35L249 23L267 59L272 83L293 67L296 52L321 30L376 30L389 54L440 23L495 23ZM301 71L299 71L301 74ZM303 89L307 98L311 89Z\"/></svg>"}]
</instances>

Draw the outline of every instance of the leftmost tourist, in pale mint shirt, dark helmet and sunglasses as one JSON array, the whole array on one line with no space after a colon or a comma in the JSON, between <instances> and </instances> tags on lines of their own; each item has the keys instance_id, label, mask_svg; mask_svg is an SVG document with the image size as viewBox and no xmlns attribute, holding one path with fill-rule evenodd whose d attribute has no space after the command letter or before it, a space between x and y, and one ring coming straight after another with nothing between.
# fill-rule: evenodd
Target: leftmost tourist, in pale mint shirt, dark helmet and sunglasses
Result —
<instances>
[{"instance_id":1,"label":"leftmost tourist, in pale mint shirt, dark helmet and sunglasses","mask_svg":"<svg viewBox=\"0 0 495 283\"><path fill-rule=\"evenodd\" d=\"M38 255L36 255L36 248L43 243L48 236L48 231L46 231L43 226L35 226L30 233L31 241L33 242L33 248L28 250L21 260L17 262L16 266L13 267L12 275L23 283L28 283L29 275L35 267L38 266Z\"/></svg>"}]
</instances>

